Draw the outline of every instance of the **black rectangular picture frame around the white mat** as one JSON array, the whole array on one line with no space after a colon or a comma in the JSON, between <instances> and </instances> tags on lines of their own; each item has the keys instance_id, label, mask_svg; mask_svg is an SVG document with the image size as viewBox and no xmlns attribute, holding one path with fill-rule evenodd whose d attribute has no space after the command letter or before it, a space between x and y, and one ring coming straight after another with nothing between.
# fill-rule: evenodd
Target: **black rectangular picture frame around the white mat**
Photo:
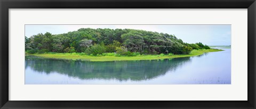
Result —
<instances>
[{"instance_id":1,"label":"black rectangular picture frame around the white mat","mask_svg":"<svg viewBox=\"0 0 256 109\"><path fill-rule=\"evenodd\" d=\"M247 8L247 101L9 101L9 8ZM255 108L255 0L0 0L1 108ZM242 36L241 36L242 37ZM246 73L246 72L243 72Z\"/></svg>"}]
</instances>

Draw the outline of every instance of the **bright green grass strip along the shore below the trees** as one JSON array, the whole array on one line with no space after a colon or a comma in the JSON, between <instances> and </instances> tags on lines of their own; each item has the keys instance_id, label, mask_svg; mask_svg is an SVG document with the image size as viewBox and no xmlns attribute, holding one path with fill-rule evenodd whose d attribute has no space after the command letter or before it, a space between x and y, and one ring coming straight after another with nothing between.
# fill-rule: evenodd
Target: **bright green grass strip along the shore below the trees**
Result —
<instances>
[{"instance_id":1,"label":"bright green grass strip along the shore below the trees","mask_svg":"<svg viewBox=\"0 0 256 109\"><path fill-rule=\"evenodd\" d=\"M168 58L180 58L180 57L191 57L202 55L205 52L215 52L223 51L219 49L203 49L203 50L193 50L189 55L139 55L132 57L116 57L116 56L87 56L81 53L43 53L43 54L30 54L26 56L35 56L41 58L49 59L67 59L67 60L84 60L84 61L127 61L127 60L158 60L158 59L168 59Z\"/></svg>"}]
</instances>

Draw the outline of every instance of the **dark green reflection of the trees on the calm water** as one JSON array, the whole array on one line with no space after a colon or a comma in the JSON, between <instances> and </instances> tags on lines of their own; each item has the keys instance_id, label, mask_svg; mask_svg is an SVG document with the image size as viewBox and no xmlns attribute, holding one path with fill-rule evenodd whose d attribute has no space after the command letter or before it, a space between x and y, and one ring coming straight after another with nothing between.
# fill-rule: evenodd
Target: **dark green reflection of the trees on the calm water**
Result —
<instances>
[{"instance_id":1,"label":"dark green reflection of the trees on the calm water","mask_svg":"<svg viewBox=\"0 0 256 109\"><path fill-rule=\"evenodd\" d=\"M90 62L73 60L31 59L26 57L26 68L30 67L35 72L59 74L76 77L79 79L116 79L123 80L149 80L167 71L175 71L184 63L190 61L186 58L173 58L164 60L140 61L108 61Z\"/></svg>"}]
</instances>

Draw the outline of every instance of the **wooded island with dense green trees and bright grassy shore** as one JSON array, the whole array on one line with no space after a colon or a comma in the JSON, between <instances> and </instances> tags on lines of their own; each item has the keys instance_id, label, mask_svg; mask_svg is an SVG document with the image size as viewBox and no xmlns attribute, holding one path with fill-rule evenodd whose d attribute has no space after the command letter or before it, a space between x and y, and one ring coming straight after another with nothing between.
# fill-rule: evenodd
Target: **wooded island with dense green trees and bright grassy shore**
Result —
<instances>
[{"instance_id":1,"label":"wooded island with dense green trees and bright grassy shore","mask_svg":"<svg viewBox=\"0 0 256 109\"><path fill-rule=\"evenodd\" d=\"M89 61L154 60L202 55L210 49L172 34L133 29L90 29L25 36L26 56ZM99 58L101 57L101 58ZM112 59L109 59L112 58Z\"/></svg>"}]
</instances>

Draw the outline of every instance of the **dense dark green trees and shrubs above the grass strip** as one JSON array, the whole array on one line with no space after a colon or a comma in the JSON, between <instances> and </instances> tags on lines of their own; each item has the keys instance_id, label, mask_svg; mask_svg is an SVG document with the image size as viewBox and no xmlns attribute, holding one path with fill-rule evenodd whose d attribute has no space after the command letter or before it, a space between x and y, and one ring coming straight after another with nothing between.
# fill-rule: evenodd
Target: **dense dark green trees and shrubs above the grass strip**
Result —
<instances>
[{"instance_id":1,"label":"dense dark green trees and shrubs above the grass strip","mask_svg":"<svg viewBox=\"0 0 256 109\"><path fill-rule=\"evenodd\" d=\"M210 49L205 44L185 43L172 34L133 29L90 29L51 34L38 33L25 36L27 53L84 52L87 55L101 55L116 52L129 56L140 54L189 54L193 49Z\"/></svg>"}]
</instances>

